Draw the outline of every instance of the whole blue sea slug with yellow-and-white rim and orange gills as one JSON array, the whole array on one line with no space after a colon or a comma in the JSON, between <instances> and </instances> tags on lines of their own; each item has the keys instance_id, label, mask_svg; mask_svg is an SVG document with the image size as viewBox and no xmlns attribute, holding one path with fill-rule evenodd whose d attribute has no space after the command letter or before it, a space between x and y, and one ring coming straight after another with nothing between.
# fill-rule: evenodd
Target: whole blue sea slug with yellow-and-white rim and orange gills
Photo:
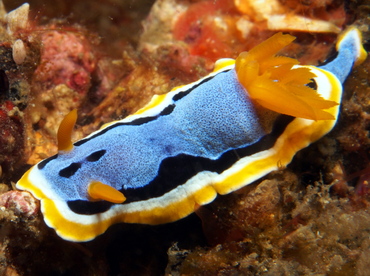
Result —
<instances>
[{"instance_id":1,"label":"whole blue sea slug with yellow-and-white rim and orange gills","mask_svg":"<svg viewBox=\"0 0 370 276\"><path fill-rule=\"evenodd\" d=\"M292 40L278 33L236 60L219 60L206 77L75 143L72 111L59 127L58 154L16 187L41 201L60 237L89 241L114 223L181 219L289 164L333 128L342 83L366 58L356 28L319 67L275 56Z\"/></svg>"}]
</instances>

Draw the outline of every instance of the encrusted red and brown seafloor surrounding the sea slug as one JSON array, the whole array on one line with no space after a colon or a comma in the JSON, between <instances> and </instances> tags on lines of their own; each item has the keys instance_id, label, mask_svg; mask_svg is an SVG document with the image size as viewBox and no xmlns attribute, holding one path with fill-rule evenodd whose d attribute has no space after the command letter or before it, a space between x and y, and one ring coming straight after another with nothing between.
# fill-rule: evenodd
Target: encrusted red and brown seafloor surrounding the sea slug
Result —
<instances>
[{"instance_id":1,"label":"encrusted red and brown seafloor surrounding the sea slug","mask_svg":"<svg viewBox=\"0 0 370 276\"><path fill-rule=\"evenodd\" d=\"M79 110L74 139L82 138L235 58L276 32L272 23L297 36L284 54L302 63L324 61L351 24L368 50L369 1L34 0L15 19L7 12L23 2L3 2L0 274L370 275L369 59L346 81L329 135L181 221L115 225L75 244L45 225L37 201L11 191L56 152L69 110ZM282 22L286 14L317 30Z\"/></svg>"}]
</instances>

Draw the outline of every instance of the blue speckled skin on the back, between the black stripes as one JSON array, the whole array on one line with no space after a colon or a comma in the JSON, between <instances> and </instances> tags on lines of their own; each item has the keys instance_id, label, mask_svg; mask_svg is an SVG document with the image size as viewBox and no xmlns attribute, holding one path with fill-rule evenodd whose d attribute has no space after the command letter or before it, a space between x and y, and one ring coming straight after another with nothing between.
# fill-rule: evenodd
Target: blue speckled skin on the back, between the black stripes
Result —
<instances>
[{"instance_id":1,"label":"blue speckled skin on the back, between the black stripes","mask_svg":"<svg viewBox=\"0 0 370 276\"><path fill-rule=\"evenodd\" d=\"M174 102L168 115L141 125L116 126L71 152L59 155L41 169L65 200L87 200L87 186L100 181L120 190L147 185L161 161L185 153L217 159L226 150L258 141L264 131L234 70L220 73ZM96 162L86 157L99 150ZM69 178L59 171L72 163L81 168Z\"/></svg>"}]
</instances>

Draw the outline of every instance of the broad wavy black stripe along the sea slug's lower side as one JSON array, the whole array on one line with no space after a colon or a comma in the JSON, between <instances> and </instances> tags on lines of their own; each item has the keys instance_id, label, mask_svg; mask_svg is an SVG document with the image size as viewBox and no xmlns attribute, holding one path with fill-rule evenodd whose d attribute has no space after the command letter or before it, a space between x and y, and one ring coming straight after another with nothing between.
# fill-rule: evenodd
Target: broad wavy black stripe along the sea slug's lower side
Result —
<instances>
[{"instance_id":1,"label":"broad wavy black stripe along the sea slug's lower side","mask_svg":"<svg viewBox=\"0 0 370 276\"><path fill-rule=\"evenodd\" d=\"M161 162L157 177L150 183L136 189L120 190L127 198L122 204L161 197L176 187L183 185L199 172L210 171L221 174L232 167L239 159L272 148L276 140L293 120L294 117L280 115L275 121L271 133L252 145L226 151L216 160L186 154L166 158ZM84 215L101 213L114 205L107 201L90 202L84 200L68 201L67 204L73 212Z\"/></svg>"}]
</instances>

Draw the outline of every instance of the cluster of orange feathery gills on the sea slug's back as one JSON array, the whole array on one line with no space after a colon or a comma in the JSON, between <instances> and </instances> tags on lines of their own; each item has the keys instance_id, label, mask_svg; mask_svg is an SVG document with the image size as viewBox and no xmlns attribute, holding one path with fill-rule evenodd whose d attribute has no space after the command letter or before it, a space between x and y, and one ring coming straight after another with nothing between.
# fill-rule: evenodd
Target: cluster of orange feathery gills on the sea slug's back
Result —
<instances>
[{"instance_id":1,"label":"cluster of orange feathery gills on the sea slug's back","mask_svg":"<svg viewBox=\"0 0 370 276\"><path fill-rule=\"evenodd\" d=\"M278 113L311 120L334 120L325 109L338 105L307 85L315 77L296 59L275 56L295 38L277 33L235 61L240 83L251 99Z\"/></svg>"}]
</instances>

